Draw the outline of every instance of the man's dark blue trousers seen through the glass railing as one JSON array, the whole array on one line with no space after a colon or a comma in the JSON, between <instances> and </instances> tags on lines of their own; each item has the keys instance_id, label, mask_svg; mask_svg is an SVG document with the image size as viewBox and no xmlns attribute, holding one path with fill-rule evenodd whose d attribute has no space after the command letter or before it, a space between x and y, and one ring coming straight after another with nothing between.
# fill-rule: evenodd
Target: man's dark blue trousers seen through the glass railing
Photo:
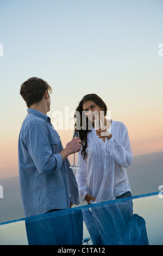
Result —
<instances>
[{"instance_id":1,"label":"man's dark blue trousers seen through the glass railing","mask_svg":"<svg viewBox=\"0 0 163 256\"><path fill-rule=\"evenodd\" d=\"M51 212L27 219L26 232L29 245L82 245L82 211Z\"/></svg>"}]
</instances>

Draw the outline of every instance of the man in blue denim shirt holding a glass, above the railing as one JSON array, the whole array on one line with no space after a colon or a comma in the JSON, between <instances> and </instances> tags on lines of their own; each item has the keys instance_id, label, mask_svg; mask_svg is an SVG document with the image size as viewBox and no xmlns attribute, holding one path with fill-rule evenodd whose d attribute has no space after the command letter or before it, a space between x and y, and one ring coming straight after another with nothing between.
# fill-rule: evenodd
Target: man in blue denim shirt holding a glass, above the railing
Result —
<instances>
[{"instance_id":1,"label":"man in blue denim shirt holding a glass, above the railing","mask_svg":"<svg viewBox=\"0 0 163 256\"><path fill-rule=\"evenodd\" d=\"M66 148L62 147L47 116L51 92L51 86L40 78L28 79L20 89L28 107L18 139L20 187L26 217L79 204L76 178L67 157L80 150L81 141L76 138Z\"/></svg>"}]
</instances>

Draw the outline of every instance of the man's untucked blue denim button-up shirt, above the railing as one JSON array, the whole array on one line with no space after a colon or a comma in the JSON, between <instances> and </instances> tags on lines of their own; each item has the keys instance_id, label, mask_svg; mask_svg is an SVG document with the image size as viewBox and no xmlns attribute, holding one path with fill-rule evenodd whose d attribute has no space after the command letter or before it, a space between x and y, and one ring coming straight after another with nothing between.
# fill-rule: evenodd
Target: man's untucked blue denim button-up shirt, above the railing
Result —
<instances>
[{"instance_id":1,"label":"man's untucked blue denim button-up shirt, above the railing","mask_svg":"<svg viewBox=\"0 0 163 256\"><path fill-rule=\"evenodd\" d=\"M79 204L78 186L68 159L62 161L60 137L51 119L27 109L18 139L18 165L24 214L40 215Z\"/></svg>"}]
</instances>

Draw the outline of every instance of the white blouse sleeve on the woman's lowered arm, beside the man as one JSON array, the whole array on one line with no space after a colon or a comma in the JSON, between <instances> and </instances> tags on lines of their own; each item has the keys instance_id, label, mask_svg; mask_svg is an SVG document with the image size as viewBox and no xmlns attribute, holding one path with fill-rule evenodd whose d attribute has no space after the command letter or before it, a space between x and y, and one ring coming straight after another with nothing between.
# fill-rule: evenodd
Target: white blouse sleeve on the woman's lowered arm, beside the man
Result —
<instances>
[{"instance_id":1,"label":"white blouse sleeve on the woman's lowered arm, beside the man","mask_svg":"<svg viewBox=\"0 0 163 256\"><path fill-rule=\"evenodd\" d=\"M85 199L86 192L86 180L87 180L87 157L83 159L82 148L78 152L78 169L76 174L76 180L78 183L78 189L82 201Z\"/></svg>"}]
</instances>

